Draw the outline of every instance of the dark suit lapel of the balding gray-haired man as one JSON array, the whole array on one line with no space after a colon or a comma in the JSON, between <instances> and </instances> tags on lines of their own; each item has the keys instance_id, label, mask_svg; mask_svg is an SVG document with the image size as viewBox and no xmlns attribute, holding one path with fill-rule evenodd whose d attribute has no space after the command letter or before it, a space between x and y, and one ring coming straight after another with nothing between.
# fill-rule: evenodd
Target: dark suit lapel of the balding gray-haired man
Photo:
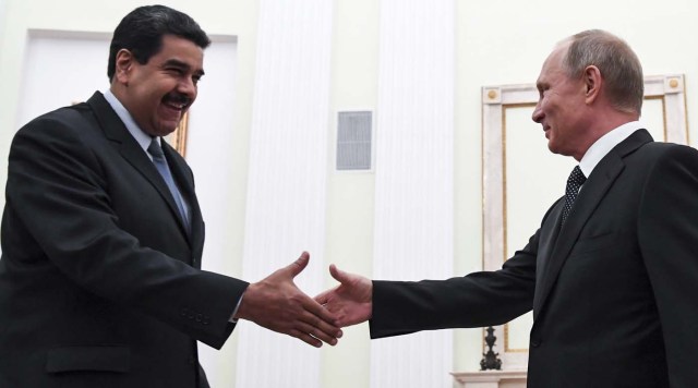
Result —
<instances>
[{"instance_id":1,"label":"dark suit lapel of the balding gray-haired man","mask_svg":"<svg viewBox=\"0 0 698 388\"><path fill-rule=\"evenodd\" d=\"M559 228L556 240L554 239L553 233L553 248L550 256L543 257L545 265L537 276L535 281L535 296L533 300L533 311L537 312L535 315L538 315L544 306L545 301L557 280L557 276L567 260L569 252L577 243L579 233L587 223L587 220L591 217L613 182L615 182L625 168L623 158L649 142L652 142L652 136L650 136L646 130L636 131L628 138L615 146L594 168L593 172L579 192L579 196L577 196L577 201L569 214L567 222ZM562 206L558 207L562 213ZM559 225L559 217L549 217L546 223L550 222ZM547 228L549 230L554 230L556 226L550 226ZM542 279L538 279L541 275Z\"/></svg>"}]
</instances>

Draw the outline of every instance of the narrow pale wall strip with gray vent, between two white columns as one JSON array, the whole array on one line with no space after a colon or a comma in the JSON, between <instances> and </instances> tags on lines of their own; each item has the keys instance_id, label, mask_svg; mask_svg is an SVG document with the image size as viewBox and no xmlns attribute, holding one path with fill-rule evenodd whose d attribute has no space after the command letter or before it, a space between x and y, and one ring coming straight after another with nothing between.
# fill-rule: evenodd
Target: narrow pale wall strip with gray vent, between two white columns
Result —
<instances>
[{"instance_id":1,"label":"narrow pale wall strip with gray vent, between two white columns","mask_svg":"<svg viewBox=\"0 0 698 388\"><path fill-rule=\"evenodd\" d=\"M375 112L378 83L378 2L335 1L330 109ZM329 149L335 136L329 136ZM334 155L330 153L329 155ZM333 171L334 160L328 160ZM340 268L371 276L373 266L374 174L329 173L327 177L327 234L325 259ZM327 287L334 281L327 280ZM323 350L324 387L369 386L370 341L366 325L345 329L340 345ZM350 361L350 362L347 362ZM345 381L345 383L341 383Z\"/></svg>"}]
</instances>

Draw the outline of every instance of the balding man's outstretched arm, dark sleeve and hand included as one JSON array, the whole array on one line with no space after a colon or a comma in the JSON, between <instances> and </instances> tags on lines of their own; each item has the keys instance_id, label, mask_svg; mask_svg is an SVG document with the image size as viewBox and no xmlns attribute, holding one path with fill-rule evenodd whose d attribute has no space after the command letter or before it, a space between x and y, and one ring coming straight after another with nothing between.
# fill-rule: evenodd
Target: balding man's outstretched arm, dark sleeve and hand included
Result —
<instances>
[{"instance_id":1,"label":"balding man's outstretched arm, dark sleeve and hand included","mask_svg":"<svg viewBox=\"0 0 698 388\"><path fill-rule=\"evenodd\" d=\"M371 319L371 338L504 324L532 307L538 235L501 270L447 280L371 281L333 265L340 284L315 300L338 317L337 326Z\"/></svg>"}]
</instances>

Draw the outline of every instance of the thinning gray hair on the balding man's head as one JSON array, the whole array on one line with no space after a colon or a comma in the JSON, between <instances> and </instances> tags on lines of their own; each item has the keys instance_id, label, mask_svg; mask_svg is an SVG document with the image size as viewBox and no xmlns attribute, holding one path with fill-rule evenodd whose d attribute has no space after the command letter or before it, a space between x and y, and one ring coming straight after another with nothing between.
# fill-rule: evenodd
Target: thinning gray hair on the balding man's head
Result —
<instances>
[{"instance_id":1,"label":"thinning gray hair on the balding man's head","mask_svg":"<svg viewBox=\"0 0 698 388\"><path fill-rule=\"evenodd\" d=\"M645 95L642 65L625 40L601 29L573 35L564 58L565 72L579 77L589 65L595 65L605 80L613 107L628 113L640 113Z\"/></svg>"}]
</instances>

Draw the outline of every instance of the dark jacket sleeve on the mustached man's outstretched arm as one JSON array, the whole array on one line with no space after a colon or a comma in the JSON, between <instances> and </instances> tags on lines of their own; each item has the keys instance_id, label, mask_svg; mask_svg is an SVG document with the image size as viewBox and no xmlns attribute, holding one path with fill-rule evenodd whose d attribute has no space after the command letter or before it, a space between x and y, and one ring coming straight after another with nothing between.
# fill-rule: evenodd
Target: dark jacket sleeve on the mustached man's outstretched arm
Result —
<instances>
[{"instance_id":1,"label":"dark jacket sleeve on the mustached man's outstretched arm","mask_svg":"<svg viewBox=\"0 0 698 388\"><path fill-rule=\"evenodd\" d=\"M32 243L3 251L34 255L24 257L27 260L45 259L88 292L220 348L232 331L230 314L248 283L142 246L121 229L112 209L117 199L108 192L119 182L105 177L104 160L85 143L76 120L45 117L15 135L5 217L24 231L13 231L13 238ZM12 239L4 232L3 240Z\"/></svg>"}]
</instances>

